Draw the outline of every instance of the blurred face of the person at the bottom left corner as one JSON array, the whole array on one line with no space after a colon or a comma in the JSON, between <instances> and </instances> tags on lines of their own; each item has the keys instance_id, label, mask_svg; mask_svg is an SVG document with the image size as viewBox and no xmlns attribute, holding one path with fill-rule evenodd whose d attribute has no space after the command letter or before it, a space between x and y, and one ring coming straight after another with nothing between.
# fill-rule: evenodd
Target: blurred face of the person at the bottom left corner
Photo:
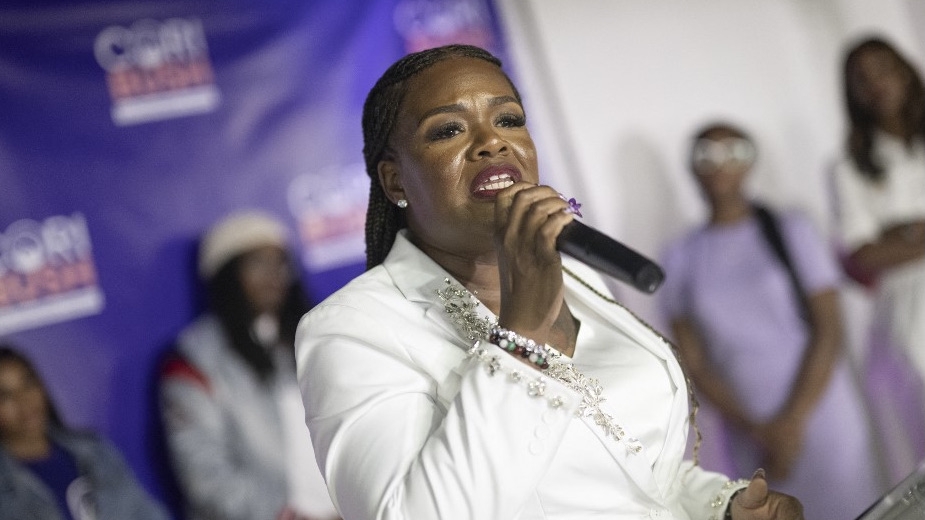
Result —
<instances>
[{"instance_id":1,"label":"blurred face of the person at the bottom left corner","mask_svg":"<svg viewBox=\"0 0 925 520\"><path fill-rule=\"evenodd\" d=\"M18 361L0 362L0 441L45 435L48 404L42 384Z\"/></svg>"}]
</instances>

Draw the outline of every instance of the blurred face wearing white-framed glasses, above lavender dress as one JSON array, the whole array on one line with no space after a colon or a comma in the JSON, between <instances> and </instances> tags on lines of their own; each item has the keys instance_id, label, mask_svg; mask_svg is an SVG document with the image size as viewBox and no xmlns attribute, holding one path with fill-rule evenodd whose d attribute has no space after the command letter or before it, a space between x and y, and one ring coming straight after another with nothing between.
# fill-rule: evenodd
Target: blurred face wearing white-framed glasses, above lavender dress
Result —
<instances>
[{"instance_id":1,"label":"blurred face wearing white-framed glasses, above lavender dress","mask_svg":"<svg viewBox=\"0 0 925 520\"><path fill-rule=\"evenodd\" d=\"M755 159L755 147L737 132L710 130L694 143L692 164L700 188L711 204L737 200Z\"/></svg>"}]
</instances>

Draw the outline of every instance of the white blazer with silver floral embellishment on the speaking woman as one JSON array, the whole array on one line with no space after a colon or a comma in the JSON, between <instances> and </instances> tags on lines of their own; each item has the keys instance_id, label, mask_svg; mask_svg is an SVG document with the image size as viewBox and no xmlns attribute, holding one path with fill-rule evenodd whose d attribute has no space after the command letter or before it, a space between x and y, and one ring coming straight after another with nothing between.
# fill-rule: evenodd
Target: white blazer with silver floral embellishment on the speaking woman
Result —
<instances>
[{"instance_id":1,"label":"white blazer with silver floral embellishment on the speaking woman","mask_svg":"<svg viewBox=\"0 0 925 520\"><path fill-rule=\"evenodd\" d=\"M609 294L596 273L563 260ZM666 410L668 434L653 464L608 435L578 391L484 341L483 356L468 355L472 341L437 297L447 278L399 234L381 266L299 326L306 422L345 520L722 518L745 483L682 461L687 384L664 340L566 276L570 304L599 312L666 367L671 402L652 405ZM606 399L648 398L602 384ZM632 434L632 417L614 419Z\"/></svg>"}]
</instances>

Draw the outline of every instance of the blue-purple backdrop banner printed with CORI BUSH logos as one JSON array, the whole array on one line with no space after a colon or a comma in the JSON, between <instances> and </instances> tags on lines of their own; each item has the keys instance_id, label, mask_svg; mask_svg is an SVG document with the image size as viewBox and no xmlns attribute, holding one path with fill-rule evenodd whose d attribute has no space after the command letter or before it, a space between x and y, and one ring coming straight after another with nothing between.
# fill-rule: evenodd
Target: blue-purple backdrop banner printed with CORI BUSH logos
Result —
<instances>
[{"instance_id":1,"label":"blue-purple backdrop banner printed with CORI BUSH logos","mask_svg":"<svg viewBox=\"0 0 925 520\"><path fill-rule=\"evenodd\" d=\"M490 0L0 7L0 340L66 422L172 502L153 376L201 309L200 234L259 207L289 223L315 301L361 272L362 102L450 42L504 58Z\"/></svg>"}]
</instances>

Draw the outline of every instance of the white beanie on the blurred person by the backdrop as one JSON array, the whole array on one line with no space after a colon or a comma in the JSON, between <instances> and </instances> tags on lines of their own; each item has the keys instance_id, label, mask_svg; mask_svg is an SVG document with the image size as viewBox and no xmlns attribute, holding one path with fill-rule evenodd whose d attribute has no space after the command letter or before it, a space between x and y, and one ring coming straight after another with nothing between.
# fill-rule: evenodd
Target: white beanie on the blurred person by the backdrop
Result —
<instances>
[{"instance_id":1,"label":"white beanie on the blurred person by the backdrop","mask_svg":"<svg viewBox=\"0 0 925 520\"><path fill-rule=\"evenodd\" d=\"M232 213L215 223L199 246L199 276L208 280L232 258L263 246L288 249L286 226L256 210Z\"/></svg>"}]
</instances>

